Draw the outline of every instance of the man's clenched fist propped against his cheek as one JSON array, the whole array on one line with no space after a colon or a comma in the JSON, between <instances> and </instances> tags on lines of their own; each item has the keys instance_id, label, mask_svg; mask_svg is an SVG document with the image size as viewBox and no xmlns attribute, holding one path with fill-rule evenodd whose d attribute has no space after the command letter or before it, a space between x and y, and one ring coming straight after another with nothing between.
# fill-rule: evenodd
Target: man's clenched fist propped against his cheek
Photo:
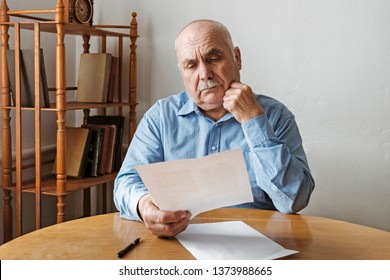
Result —
<instances>
[{"instance_id":1,"label":"man's clenched fist propped against his cheek","mask_svg":"<svg viewBox=\"0 0 390 280\"><path fill-rule=\"evenodd\" d=\"M239 82L231 83L223 98L223 107L231 112L240 123L264 114L264 110L257 102L252 89Z\"/></svg>"}]
</instances>

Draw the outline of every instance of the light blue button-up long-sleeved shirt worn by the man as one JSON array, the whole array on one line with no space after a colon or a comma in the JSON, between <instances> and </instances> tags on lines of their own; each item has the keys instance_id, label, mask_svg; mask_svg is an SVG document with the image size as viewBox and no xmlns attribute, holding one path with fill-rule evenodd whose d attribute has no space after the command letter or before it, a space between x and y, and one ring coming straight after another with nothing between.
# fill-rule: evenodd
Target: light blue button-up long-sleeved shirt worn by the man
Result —
<instances>
[{"instance_id":1,"label":"light blue button-up long-sleeved shirt worn by the man","mask_svg":"<svg viewBox=\"0 0 390 280\"><path fill-rule=\"evenodd\" d=\"M306 207L314 180L294 115L273 98L255 96L266 114L243 124L231 113L213 121L186 92L157 101L140 121L115 180L114 202L121 217L140 220L137 204L148 191L137 165L237 148L244 153L254 201L236 207L283 213Z\"/></svg>"}]
</instances>

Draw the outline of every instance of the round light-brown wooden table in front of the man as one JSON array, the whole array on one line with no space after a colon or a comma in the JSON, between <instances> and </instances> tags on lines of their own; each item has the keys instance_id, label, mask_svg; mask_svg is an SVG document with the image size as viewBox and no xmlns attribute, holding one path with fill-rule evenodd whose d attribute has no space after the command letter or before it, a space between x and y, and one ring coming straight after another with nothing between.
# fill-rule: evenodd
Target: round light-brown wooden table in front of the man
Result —
<instances>
[{"instance_id":1,"label":"round light-brown wooden table in front of the man","mask_svg":"<svg viewBox=\"0 0 390 280\"><path fill-rule=\"evenodd\" d=\"M307 215L224 208L203 213L193 223L241 220L286 249L299 251L283 259L390 260L390 233ZM0 246L0 259L116 259L134 239L142 241L124 259L194 259L176 239L150 234L142 223L118 213L82 218L46 227Z\"/></svg>"}]
</instances>

